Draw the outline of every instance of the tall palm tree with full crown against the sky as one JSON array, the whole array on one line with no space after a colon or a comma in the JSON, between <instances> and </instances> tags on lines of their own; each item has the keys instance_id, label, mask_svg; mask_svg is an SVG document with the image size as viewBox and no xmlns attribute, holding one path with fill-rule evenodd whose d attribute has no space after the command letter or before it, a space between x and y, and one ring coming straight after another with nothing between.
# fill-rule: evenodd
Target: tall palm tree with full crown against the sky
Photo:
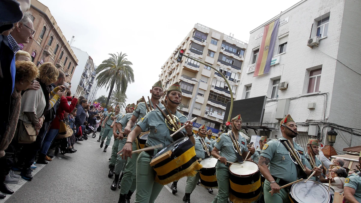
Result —
<instances>
[{"instance_id":1,"label":"tall palm tree with full crown against the sky","mask_svg":"<svg viewBox=\"0 0 361 203\"><path fill-rule=\"evenodd\" d=\"M96 69L97 86L106 86L106 91L109 90L108 99L106 99L106 106L108 106L110 97L112 96L113 88L120 90L123 94L127 90L128 83L134 82L133 69L130 67L132 62L128 61L127 56L122 52L113 54L109 53L111 57L104 60Z\"/></svg>"}]
</instances>

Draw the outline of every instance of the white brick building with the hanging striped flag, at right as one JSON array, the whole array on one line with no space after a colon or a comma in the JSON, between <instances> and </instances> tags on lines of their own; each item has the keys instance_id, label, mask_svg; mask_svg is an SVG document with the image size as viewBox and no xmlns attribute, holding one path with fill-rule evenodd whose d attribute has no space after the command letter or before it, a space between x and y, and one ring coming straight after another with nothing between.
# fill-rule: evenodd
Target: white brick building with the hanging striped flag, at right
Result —
<instances>
[{"instance_id":1,"label":"white brick building with the hanging striped flag, at right","mask_svg":"<svg viewBox=\"0 0 361 203\"><path fill-rule=\"evenodd\" d=\"M328 145L331 127L338 154L361 145L360 10L358 0L302 0L250 32L236 99L268 97L262 125L275 128L270 138L281 136L279 121L290 114L303 147L308 138ZM270 71L253 77L264 26L278 18Z\"/></svg>"}]
</instances>

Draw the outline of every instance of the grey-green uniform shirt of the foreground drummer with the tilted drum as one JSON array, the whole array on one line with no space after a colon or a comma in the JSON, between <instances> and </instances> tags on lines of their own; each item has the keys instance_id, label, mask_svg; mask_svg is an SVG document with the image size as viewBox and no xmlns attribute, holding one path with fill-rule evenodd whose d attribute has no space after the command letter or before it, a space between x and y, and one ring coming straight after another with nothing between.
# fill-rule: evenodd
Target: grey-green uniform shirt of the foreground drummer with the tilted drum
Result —
<instances>
[{"instance_id":1,"label":"grey-green uniform shirt of the foreground drummer with the tilted drum","mask_svg":"<svg viewBox=\"0 0 361 203\"><path fill-rule=\"evenodd\" d=\"M163 112L166 110L163 108ZM175 112L175 116L179 118L181 125L183 126L185 122L187 122L187 118L179 113ZM167 147L174 140L170 137L172 134L165 124L165 118L159 110L153 110L145 115L142 119L140 119L137 124L142 131L149 128L148 140L146 142L147 146L155 146L157 144L163 144L163 148ZM186 130L182 130L186 133Z\"/></svg>"}]
</instances>

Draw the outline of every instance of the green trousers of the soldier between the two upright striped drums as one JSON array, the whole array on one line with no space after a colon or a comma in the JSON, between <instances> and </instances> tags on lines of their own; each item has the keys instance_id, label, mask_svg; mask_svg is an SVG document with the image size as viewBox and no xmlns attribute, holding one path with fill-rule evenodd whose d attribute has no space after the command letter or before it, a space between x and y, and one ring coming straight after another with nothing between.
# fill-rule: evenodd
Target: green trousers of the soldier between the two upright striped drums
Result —
<instances>
[{"instance_id":1,"label":"green trousers of the soldier between the two upright striped drums","mask_svg":"<svg viewBox=\"0 0 361 203\"><path fill-rule=\"evenodd\" d=\"M216 164L216 176L218 183L218 194L212 203L227 203L229 197L229 166L220 161Z\"/></svg>"}]
</instances>

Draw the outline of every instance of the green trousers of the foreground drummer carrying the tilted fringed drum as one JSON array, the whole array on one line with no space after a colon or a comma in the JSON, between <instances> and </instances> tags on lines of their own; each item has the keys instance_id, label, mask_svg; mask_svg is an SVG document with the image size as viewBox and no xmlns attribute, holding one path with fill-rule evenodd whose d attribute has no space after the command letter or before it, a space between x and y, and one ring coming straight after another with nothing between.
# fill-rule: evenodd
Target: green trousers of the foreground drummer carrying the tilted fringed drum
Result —
<instances>
[{"instance_id":1,"label":"green trousers of the foreground drummer carrying the tilted fringed drum","mask_svg":"<svg viewBox=\"0 0 361 203\"><path fill-rule=\"evenodd\" d=\"M154 202L163 188L163 185L154 181L156 172L149 163L151 156L147 152L141 152L136 164L135 203Z\"/></svg>"}]
</instances>

